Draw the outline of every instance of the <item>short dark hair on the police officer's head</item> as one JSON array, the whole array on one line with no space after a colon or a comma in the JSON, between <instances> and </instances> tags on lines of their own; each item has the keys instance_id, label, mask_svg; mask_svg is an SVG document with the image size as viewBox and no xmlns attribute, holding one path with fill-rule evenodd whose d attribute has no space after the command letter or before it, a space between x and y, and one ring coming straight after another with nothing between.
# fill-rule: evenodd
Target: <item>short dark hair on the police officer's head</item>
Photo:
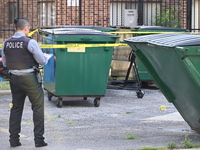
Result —
<instances>
[{"instance_id":1,"label":"short dark hair on the police officer's head","mask_svg":"<svg viewBox=\"0 0 200 150\"><path fill-rule=\"evenodd\" d=\"M21 17L21 18L15 18L14 24L16 30L23 30L26 26L30 26L30 22L27 18Z\"/></svg>"}]
</instances>

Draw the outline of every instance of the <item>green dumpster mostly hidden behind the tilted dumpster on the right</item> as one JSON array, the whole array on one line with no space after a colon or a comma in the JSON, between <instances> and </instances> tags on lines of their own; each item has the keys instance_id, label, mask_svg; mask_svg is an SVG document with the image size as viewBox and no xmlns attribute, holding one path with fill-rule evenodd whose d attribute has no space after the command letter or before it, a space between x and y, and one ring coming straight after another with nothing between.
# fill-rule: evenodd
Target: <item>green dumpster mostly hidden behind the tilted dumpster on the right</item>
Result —
<instances>
[{"instance_id":1,"label":"green dumpster mostly hidden behind the tilted dumpster on the right","mask_svg":"<svg viewBox=\"0 0 200 150\"><path fill-rule=\"evenodd\" d=\"M162 27L162 26L135 26L131 29L132 32L138 32L134 33L133 36L142 36L142 35L150 35L150 34L158 34L160 32L188 32L186 29L181 28L173 28L173 27ZM141 33L144 32L144 33ZM152 80L152 77L147 72L147 69L142 64L140 60L137 60L138 65L138 73L140 76L140 79L143 81L150 81Z\"/></svg>"}]
</instances>

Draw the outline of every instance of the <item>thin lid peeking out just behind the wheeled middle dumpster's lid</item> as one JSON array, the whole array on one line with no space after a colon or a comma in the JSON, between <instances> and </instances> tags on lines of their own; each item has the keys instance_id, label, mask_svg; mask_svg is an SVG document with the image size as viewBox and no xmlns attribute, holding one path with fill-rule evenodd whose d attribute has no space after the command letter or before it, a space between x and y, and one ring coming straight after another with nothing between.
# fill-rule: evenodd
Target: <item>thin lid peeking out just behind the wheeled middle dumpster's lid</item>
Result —
<instances>
[{"instance_id":1,"label":"thin lid peeking out just behind the wheeled middle dumpster's lid","mask_svg":"<svg viewBox=\"0 0 200 150\"><path fill-rule=\"evenodd\" d=\"M83 28L83 29L94 29L94 30L109 30L116 31L117 28L109 28L109 27L99 27L99 26L71 26L71 25L55 25L55 26L44 26L40 29L56 29L56 28Z\"/></svg>"}]
</instances>

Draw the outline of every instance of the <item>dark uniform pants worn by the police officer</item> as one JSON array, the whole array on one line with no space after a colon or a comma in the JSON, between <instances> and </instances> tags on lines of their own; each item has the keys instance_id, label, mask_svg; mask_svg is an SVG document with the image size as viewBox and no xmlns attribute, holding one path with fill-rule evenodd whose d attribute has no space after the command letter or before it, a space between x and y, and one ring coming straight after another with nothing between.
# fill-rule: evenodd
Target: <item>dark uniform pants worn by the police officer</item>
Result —
<instances>
[{"instance_id":1,"label":"dark uniform pants worn by the police officer","mask_svg":"<svg viewBox=\"0 0 200 150\"><path fill-rule=\"evenodd\" d=\"M10 87L13 103L9 121L10 142L19 141L26 96L28 96L32 104L35 143L42 142L44 140L44 93L42 84L38 83L35 73L23 76L12 74L10 77Z\"/></svg>"}]
</instances>

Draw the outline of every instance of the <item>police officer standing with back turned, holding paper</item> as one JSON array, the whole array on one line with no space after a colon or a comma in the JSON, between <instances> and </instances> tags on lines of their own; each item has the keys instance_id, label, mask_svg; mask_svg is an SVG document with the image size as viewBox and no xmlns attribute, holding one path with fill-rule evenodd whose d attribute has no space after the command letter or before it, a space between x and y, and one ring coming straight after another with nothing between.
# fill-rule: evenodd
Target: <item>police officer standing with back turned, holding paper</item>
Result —
<instances>
[{"instance_id":1,"label":"police officer standing with back turned, holding paper","mask_svg":"<svg viewBox=\"0 0 200 150\"><path fill-rule=\"evenodd\" d=\"M30 29L28 19L16 18L14 24L16 33L4 42L2 50L3 65L10 73L13 103L9 120L10 146L21 146L19 133L26 96L32 105L35 146L47 146L43 137L44 93L42 83L37 78L38 72L34 70L34 67L45 65L47 57L38 43L27 37Z\"/></svg>"}]
</instances>

